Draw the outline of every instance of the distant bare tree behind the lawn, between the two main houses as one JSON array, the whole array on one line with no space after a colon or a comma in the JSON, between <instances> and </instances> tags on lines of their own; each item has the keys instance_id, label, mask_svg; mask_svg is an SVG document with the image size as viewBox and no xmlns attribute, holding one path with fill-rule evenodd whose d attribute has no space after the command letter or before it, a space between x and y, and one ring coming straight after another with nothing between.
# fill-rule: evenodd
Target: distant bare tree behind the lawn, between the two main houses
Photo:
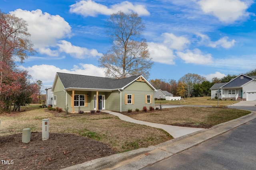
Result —
<instances>
[{"instance_id":1,"label":"distant bare tree behind the lawn, between the two main houses","mask_svg":"<svg viewBox=\"0 0 256 170\"><path fill-rule=\"evenodd\" d=\"M188 74L185 74L182 78L180 78L180 81L185 83L186 96L189 98L190 96L192 96L194 85L200 84L203 81L206 81L206 78L198 74L188 73Z\"/></svg>"}]
</instances>

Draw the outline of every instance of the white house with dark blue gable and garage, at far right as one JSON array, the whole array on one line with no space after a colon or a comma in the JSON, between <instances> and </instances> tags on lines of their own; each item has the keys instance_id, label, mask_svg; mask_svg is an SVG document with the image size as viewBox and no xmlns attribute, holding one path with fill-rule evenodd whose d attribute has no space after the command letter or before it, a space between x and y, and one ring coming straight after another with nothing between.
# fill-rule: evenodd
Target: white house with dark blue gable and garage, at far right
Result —
<instances>
[{"instance_id":1,"label":"white house with dark blue gable and garage, at far right","mask_svg":"<svg viewBox=\"0 0 256 170\"><path fill-rule=\"evenodd\" d=\"M210 90L212 99L219 95L222 100L256 101L256 76L240 74L230 82L215 83Z\"/></svg>"}]
</instances>

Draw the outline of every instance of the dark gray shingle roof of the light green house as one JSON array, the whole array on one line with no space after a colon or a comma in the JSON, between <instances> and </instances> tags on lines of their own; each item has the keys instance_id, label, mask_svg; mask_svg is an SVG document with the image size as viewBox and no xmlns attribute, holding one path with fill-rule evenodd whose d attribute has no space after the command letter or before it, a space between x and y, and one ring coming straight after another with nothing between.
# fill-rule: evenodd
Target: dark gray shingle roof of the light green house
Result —
<instances>
[{"instance_id":1,"label":"dark gray shingle roof of the light green house","mask_svg":"<svg viewBox=\"0 0 256 170\"><path fill-rule=\"evenodd\" d=\"M118 89L123 88L138 76L115 79L96 76L85 76L79 74L68 74L57 72L64 88L94 88L94 89Z\"/></svg>"}]
</instances>

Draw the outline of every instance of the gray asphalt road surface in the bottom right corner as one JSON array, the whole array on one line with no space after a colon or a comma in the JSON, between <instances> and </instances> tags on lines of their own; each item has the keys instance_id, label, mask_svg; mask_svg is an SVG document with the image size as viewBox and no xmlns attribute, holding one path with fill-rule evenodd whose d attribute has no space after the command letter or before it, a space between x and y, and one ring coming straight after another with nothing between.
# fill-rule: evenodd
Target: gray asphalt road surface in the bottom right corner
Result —
<instances>
[{"instance_id":1,"label":"gray asphalt road surface in the bottom right corner","mask_svg":"<svg viewBox=\"0 0 256 170\"><path fill-rule=\"evenodd\" d=\"M255 170L256 119L142 170Z\"/></svg>"}]
</instances>

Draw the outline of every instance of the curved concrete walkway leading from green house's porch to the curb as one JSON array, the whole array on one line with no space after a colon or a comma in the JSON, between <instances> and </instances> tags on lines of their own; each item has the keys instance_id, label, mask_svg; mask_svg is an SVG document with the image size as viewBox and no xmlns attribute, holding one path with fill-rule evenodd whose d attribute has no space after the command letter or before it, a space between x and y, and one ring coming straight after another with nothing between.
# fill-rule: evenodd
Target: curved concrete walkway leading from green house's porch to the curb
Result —
<instances>
[{"instance_id":1,"label":"curved concrete walkway leading from green house's porch to the curb","mask_svg":"<svg viewBox=\"0 0 256 170\"><path fill-rule=\"evenodd\" d=\"M193 133L193 132L202 130L202 128L163 125L163 124L159 124L159 123L151 123L151 122L146 122L146 121L140 121L140 120L132 119L129 116L126 116L126 115L123 115L121 113L117 113L117 112L114 112L114 111L104 110L104 112L115 115L115 116L118 116L119 119L124 120L124 121L128 121L128 122L131 122L131 123L136 123L136 124L140 124L140 125L147 125L147 126L155 127L155 128L158 128L158 129L163 129L164 131L166 131L167 133L172 135L172 137L174 137L174 138L181 137L181 136L187 135L189 133Z\"/></svg>"}]
</instances>

